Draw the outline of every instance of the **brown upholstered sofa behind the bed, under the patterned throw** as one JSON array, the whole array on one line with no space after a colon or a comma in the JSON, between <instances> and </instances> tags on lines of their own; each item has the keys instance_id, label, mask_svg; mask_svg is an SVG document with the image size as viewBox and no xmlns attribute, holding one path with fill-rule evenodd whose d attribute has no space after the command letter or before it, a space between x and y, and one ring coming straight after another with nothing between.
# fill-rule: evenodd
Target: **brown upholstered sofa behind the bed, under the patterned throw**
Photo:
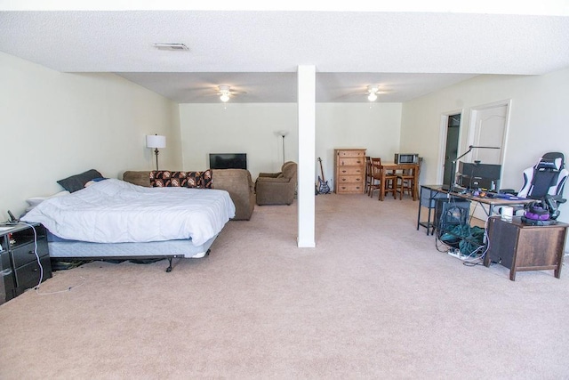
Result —
<instances>
[{"instance_id":1,"label":"brown upholstered sofa behind the bed, under the patterned throw","mask_svg":"<svg viewBox=\"0 0 569 380\"><path fill-rule=\"evenodd\" d=\"M126 171L123 180L151 187L150 171ZM227 190L236 207L236 221L251 219L255 206L254 183L251 173L244 169L212 169L212 189Z\"/></svg>"}]
</instances>

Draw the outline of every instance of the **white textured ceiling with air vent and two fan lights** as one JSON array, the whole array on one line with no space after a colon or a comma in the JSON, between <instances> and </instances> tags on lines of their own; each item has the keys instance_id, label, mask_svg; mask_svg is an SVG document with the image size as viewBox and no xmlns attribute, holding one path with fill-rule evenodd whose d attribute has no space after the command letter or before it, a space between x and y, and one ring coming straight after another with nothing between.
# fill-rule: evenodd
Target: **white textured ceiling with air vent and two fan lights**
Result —
<instances>
[{"instance_id":1,"label":"white textured ceiling with air vent and two fan lights","mask_svg":"<svg viewBox=\"0 0 569 380\"><path fill-rule=\"evenodd\" d=\"M299 65L316 67L319 102L366 101L366 85L386 90L378 101L399 102L480 74L568 68L569 5L556 3L561 16L525 8L276 12L194 4L44 11L0 0L0 51L61 72L116 73L184 103L219 102L218 85L244 92L231 102L294 102ZM156 50L156 43L186 44L188 51Z\"/></svg>"}]
</instances>

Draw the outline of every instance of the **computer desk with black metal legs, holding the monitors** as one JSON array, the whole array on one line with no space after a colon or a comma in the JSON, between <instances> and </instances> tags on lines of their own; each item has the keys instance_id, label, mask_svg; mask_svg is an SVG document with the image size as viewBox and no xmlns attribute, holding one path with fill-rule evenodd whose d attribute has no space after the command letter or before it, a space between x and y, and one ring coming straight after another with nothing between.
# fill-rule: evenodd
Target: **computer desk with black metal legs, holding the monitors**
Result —
<instances>
[{"instance_id":1,"label":"computer desk with black metal legs, holding the monitors","mask_svg":"<svg viewBox=\"0 0 569 380\"><path fill-rule=\"evenodd\" d=\"M451 191L443 188L443 185L421 185L421 193L419 198L419 212L417 213L417 230L419 227L425 227L427 229L427 235L429 235L429 229L432 228L431 235L435 233L436 223L431 222L431 210L435 207L435 202L437 198L463 198L469 202L477 202L481 205L488 206L488 211L483 207L485 213L488 217L492 216L493 208L495 206L524 206L528 203L532 203L535 199L527 198L490 198L490 197L477 197L469 192L463 193L461 191ZM429 209L429 215L426 222L421 222L421 207L427 207Z\"/></svg>"}]
</instances>

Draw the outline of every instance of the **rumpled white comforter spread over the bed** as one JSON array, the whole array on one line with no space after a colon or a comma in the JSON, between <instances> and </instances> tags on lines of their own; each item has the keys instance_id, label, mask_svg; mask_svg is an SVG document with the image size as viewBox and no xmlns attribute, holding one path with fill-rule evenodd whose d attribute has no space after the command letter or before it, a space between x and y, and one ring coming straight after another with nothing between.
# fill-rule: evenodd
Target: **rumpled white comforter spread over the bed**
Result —
<instances>
[{"instance_id":1,"label":"rumpled white comforter spread over the bed","mask_svg":"<svg viewBox=\"0 0 569 380\"><path fill-rule=\"evenodd\" d=\"M63 239L95 243L212 239L235 205L225 190L145 188L108 179L50 198L21 219L39 222Z\"/></svg>"}]
</instances>

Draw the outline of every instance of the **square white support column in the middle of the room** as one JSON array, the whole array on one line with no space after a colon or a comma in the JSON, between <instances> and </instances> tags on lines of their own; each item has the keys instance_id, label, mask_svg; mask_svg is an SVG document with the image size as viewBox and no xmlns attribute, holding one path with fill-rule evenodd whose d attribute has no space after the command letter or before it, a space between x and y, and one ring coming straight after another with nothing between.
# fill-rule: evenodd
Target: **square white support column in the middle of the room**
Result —
<instances>
[{"instance_id":1,"label":"square white support column in the middle of the room","mask_svg":"<svg viewBox=\"0 0 569 380\"><path fill-rule=\"evenodd\" d=\"M315 188L316 162L316 67L298 67L299 185L298 247L316 247Z\"/></svg>"}]
</instances>

